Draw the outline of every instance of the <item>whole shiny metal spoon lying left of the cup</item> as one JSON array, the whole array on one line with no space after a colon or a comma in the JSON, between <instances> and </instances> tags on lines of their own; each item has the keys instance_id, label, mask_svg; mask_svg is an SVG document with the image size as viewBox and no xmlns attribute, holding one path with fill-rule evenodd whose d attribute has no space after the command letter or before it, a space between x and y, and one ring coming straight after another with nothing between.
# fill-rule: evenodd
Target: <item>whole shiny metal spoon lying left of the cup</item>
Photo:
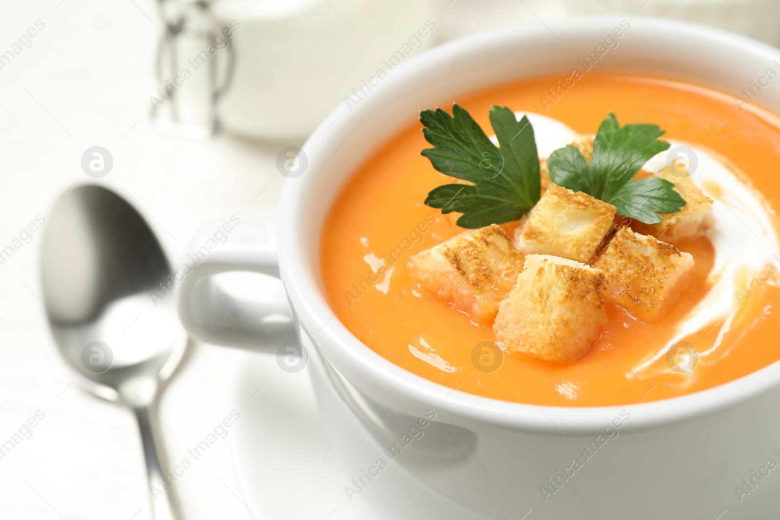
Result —
<instances>
[{"instance_id":1,"label":"whole shiny metal spoon lying left of the cup","mask_svg":"<svg viewBox=\"0 0 780 520\"><path fill-rule=\"evenodd\" d=\"M165 296L172 278L160 244L122 197L80 186L51 212L41 276L49 326L81 386L136 414L154 518L179 518L150 408L187 341L174 298Z\"/></svg>"}]
</instances>

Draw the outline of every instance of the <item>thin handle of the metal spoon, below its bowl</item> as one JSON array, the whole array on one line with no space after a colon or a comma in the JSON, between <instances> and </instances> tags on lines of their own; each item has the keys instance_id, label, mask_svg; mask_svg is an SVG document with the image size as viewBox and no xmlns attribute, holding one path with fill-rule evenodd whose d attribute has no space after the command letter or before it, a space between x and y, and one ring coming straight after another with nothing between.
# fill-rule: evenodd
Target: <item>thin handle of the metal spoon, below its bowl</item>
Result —
<instances>
[{"instance_id":1,"label":"thin handle of the metal spoon, below its bowl","mask_svg":"<svg viewBox=\"0 0 780 520\"><path fill-rule=\"evenodd\" d=\"M176 512L171 491L172 482L165 479L161 464L161 451L154 439L152 412L147 406L134 406L133 411L136 412L141 442L144 444L152 517L154 520L178 520L179 515Z\"/></svg>"}]
</instances>

